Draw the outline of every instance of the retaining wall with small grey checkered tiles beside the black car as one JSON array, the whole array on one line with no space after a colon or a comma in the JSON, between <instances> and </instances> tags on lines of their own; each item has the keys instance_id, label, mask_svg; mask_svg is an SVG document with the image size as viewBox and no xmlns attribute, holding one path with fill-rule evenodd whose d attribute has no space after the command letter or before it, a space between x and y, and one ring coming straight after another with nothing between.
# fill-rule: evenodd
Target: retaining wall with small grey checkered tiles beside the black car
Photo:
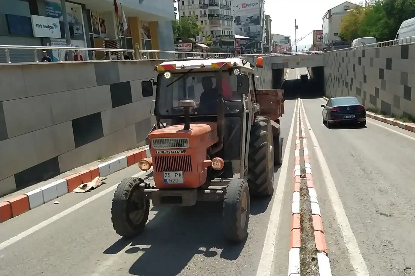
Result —
<instances>
[{"instance_id":1,"label":"retaining wall with small grey checkered tiles beside the black car","mask_svg":"<svg viewBox=\"0 0 415 276\"><path fill-rule=\"evenodd\" d=\"M325 93L356 96L366 108L415 117L415 44L325 54Z\"/></svg>"}]
</instances>

